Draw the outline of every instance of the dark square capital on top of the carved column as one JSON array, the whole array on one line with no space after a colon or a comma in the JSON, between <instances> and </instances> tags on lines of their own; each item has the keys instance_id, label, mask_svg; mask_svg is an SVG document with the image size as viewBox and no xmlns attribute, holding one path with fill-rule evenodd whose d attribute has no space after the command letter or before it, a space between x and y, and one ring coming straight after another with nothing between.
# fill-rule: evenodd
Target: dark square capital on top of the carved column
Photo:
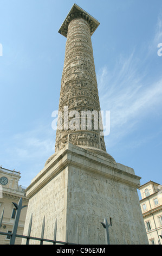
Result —
<instances>
[{"instance_id":1,"label":"dark square capital on top of the carved column","mask_svg":"<svg viewBox=\"0 0 162 256\"><path fill-rule=\"evenodd\" d=\"M92 17L90 14L88 14L87 11L80 8L77 4L73 4L72 9L69 11L66 19L63 21L59 29L59 33L67 37L68 25L70 21L78 17L82 17L83 19L87 20L90 26L90 35L92 35L95 32L96 28L98 28L98 26L100 25L99 21Z\"/></svg>"}]
</instances>

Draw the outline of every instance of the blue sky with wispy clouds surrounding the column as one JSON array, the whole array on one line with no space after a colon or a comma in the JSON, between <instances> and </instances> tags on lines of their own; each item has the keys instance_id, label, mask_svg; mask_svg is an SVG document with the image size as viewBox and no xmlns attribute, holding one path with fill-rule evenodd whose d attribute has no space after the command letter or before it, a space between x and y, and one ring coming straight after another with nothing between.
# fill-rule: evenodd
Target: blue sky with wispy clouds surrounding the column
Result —
<instances>
[{"instance_id":1,"label":"blue sky with wispy clouds surrounding the column","mask_svg":"<svg viewBox=\"0 0 162 256\"><path fill-rule=\"evenodd\" d=\"M0 165L27 187L54 154L66 44L58 31L74 3L100 22L92 44L101 109L111 113L107 152L141 184L161 184L161 0L0 1Z\"/></svg>"}]
</instances>

